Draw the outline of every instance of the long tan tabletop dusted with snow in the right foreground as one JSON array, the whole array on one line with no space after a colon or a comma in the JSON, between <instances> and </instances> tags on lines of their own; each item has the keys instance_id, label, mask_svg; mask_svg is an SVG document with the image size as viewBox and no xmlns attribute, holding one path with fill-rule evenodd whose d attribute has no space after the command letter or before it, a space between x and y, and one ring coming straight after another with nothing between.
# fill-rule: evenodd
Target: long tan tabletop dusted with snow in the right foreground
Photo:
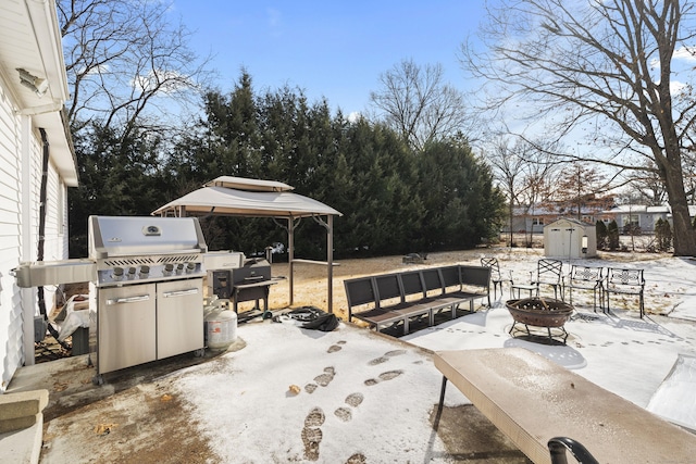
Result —
<instances>
[{"instance_id":1,"label":"long tan tabletop dusted with snow in the right foreground","mask_svg":"<svg viewBox=\"0 0 696 464\"><path fill-rule=\"evenodd\" d=\"M600 463L688 463L696 436L523 348L438 351L447 380L535 463L569 437Z\"/></svg>"}]
</instances>

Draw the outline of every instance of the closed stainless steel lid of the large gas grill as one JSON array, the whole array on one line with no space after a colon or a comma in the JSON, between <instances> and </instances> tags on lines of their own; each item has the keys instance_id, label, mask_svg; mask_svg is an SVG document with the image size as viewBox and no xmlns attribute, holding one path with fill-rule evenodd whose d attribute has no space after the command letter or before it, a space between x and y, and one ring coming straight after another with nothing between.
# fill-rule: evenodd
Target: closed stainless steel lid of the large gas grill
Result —
<instances>
[{"instance_id":1,"label":"closed stainless steel lid of the large gas grill","mask_svg":"<svg viewBox=\"0 0 696 464\"><path fill-rule=\"evenodd\" d=\"M89 258L208 251L196 217L89 216Z\"/></svg>"}]
</instances>

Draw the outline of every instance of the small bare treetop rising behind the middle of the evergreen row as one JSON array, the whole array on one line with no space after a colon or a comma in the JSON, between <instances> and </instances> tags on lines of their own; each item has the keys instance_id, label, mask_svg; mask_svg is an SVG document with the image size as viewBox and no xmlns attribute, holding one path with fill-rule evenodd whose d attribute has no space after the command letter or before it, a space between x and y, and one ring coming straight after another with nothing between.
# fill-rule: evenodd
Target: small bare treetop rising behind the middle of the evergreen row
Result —
<instances>
[{"instance_id":1,"label":"small bare treetop rising behind the middle of the evergreen row","mask_svg":"<svg viewBox=\"0 0 696 464\"><path fill-rule=\"evenodd\" d=\"M419 66L403 60L380 76L382 89L370 100L382 117L415 150L457 134L468 135L471 122L464 95L444 81L443 66Z\"/></svg>"}]
</instances>

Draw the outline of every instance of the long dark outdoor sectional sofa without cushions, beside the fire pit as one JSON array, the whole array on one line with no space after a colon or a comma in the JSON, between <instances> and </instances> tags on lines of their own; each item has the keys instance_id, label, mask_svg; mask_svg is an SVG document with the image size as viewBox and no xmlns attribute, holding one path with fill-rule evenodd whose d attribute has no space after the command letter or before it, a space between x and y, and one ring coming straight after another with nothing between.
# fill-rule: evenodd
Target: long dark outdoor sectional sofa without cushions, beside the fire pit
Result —
<instances>
[{"instance_id":1,"label":"long dark outdoor sectional sofa without cushions, beside the fire pit","mask_svg":"<svg viewBox=\"0 0 696 464\"><path fill-rule=\"evenodd\" d=\"M489 283L489 267L468 265L346 279L348 321L356 317L377 331L400 323L407 335L414 317L427 317L433 325L436 313L449 310L455 318L465 302L473 312L474 300L488 299Z\"/></svg>"}]
</instances>

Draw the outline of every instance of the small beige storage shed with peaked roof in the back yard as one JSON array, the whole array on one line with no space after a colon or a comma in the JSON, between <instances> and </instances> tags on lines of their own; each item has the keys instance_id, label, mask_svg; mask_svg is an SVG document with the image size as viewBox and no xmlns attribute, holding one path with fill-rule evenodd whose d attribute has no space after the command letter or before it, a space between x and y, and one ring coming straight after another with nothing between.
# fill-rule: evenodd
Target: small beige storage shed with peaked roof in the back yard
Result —
<instances>
[{"instance_id":1,"label":"small beige storage shed with peaked roof in the back yard","mask_svg":"<svg viewBox=\"0 0 696 464\"><path fill-rule=\"evenodd\" d=\"M552 258L593 258L597 255L594 224L563 217L544 227L544 255Z\"/></svg>"}]
</instances>

